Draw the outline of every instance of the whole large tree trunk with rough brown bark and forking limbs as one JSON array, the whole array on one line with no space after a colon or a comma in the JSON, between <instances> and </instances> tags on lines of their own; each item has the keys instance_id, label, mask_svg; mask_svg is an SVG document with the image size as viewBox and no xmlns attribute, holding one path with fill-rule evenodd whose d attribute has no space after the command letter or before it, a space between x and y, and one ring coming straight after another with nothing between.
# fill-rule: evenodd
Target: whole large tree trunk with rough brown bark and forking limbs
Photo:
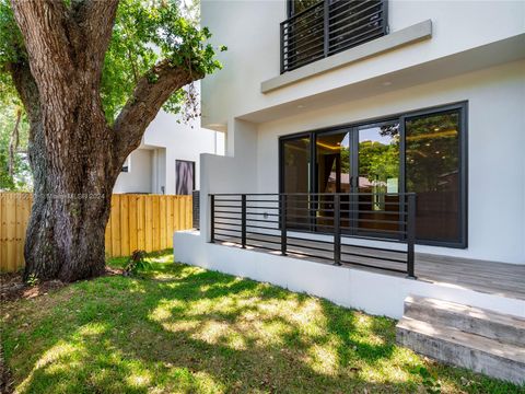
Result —
<instances>
[{"instance_id":1,"label":"whole large tree trunk with rough brown bark and forking limbs","mask_svg":"<svg viewBox=\"0 0 525 394\"><path fill-rule=\"evenodd\" d=\"M104 273L105 228L124 161L170 95L202 77L159 63L108 126L100 84L117 4L12 0L28 54L27 62L10 67L31 124L34 200L25 280L74 281Z\"/></svg>"}]
</instances>

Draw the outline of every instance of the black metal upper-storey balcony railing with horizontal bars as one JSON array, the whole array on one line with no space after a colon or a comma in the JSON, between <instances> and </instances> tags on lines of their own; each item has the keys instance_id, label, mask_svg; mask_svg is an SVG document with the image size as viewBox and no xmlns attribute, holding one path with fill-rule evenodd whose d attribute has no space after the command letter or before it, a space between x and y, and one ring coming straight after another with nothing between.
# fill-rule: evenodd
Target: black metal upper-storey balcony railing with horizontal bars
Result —
<instances>
[{"instance_id":1,"label":"black metal upper-storey balcony railing with horizontal bars","mask_svg":"<svg viewBox=\"0 0 525 394\"><path fill-rule=\"evenodd\" d=\"M387 34L386 0L324 0L281 23L281 73Z\"/></svg>"}]
</instances>

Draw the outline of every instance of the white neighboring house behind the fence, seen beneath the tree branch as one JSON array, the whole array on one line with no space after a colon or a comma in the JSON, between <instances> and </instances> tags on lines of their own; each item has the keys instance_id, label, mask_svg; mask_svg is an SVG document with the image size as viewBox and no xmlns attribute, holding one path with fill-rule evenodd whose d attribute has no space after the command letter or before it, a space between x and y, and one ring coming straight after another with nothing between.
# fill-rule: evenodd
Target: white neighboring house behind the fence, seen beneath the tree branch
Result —
<instances>
[{"instance_id":1,"label":"white neighboring house behind the fence, seen beneath the tree branch","mask_svg":"<svg viewBox=\"0 0 525 394\"><path fill-rule=\"evenodd\" d=\"M200 153L224 154L224 134L161 111L126 160L114 193L189 195L199 188Z\"/></svg>"}]
</instances>

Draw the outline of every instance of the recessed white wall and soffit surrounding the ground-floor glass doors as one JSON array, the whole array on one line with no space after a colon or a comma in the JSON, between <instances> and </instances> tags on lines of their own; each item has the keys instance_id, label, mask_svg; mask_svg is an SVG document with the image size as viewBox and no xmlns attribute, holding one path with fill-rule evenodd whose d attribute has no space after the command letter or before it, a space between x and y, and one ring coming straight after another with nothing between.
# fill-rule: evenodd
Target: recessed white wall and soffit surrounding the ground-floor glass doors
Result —
<instances>
[{"instance_id":1,"label":"recessed white wall and soffit surrounding the ground-floor glass doors","mask_svg":"<svg viewBox=\"0 0 525 394\"><path fill-rule=\"evenodd\" d=\"M418 252L525 264L525 61L258 125L257 192L279 192L280 136L468 101L468 248ZM246 151L252 146L238 147Z\"/></svg>"}]
</instances>

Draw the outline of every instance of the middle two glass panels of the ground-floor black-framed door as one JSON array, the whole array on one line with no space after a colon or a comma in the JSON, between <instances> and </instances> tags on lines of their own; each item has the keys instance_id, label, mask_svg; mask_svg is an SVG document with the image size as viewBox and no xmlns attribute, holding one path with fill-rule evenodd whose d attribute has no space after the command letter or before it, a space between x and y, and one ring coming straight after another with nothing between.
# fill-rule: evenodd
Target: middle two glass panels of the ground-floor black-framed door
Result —
<instances>
[{"instance_id":1,"label":"middle two glass panels of the ground-floor black-framed door","mask_svg":"<svg viewBox=\"0 0 525 394\"><path fill-rule=\"evenodd\" d=\"M317 193L341 194L341 227L349 233L396 230L399 190L399 123L353 127L315 137ZM359 199L354 194L361 194ZM318 197L316 224L334 223L334 197ZM386 231L384 231L386 230Z\"/></svg>"}]
</instances>

